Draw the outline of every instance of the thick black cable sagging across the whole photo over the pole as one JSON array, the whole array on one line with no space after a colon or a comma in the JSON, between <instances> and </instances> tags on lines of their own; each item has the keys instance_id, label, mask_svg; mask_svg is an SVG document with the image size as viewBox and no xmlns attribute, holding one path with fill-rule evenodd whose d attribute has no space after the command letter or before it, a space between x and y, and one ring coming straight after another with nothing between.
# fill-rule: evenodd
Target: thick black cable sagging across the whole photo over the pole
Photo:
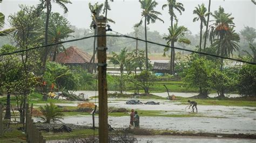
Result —
<instances>
[{"instance_id":1,"label":"thick black cable sagging across the whole photo over the pole","mask_svg":"<svg viewBox=\"0 0 256 143\"><path fill-rule=\"evenodd\" d=\"M118 32L117 32L117 33L118 33ZM120 33L119 33L119 34L120 34ZM242 61L242 60L239 60L239 59L227 58L227 57L224 57L224 56L218 56L218 55L214 55L214 54L208 54L208 53L203 53L203 52L198 52L198 51L192 51L192 50L190 50L190 49L183 49L183 48L179 48L179 47L171 47L171 46L168 46L168 45L163 45L163 44L159 44L159 43L152 42L152 41L146 41L146 40L143 40L143 39L130 37L130 36L124 35L124 34L120 34L120 35L110 35L110 34L106 34L106 35L91 35L91 36L88 36L88 37L83 37L83 38L78 38L78 39L72 39L72 40L67 40L67 41L60 41L60 42L57 42L57 43L54 43L54 44L48 44L48 45L43 45L43 46L37 46L37 47L29 48L29 49L24 49L24 50L21 50L21 51L15 51L15 52L10 52L10 53L4 53L4 54L1 54L0 56L3 56L3 55L11 55L11 54L16 54L16 53L21 53L21 52L26 52L26 51L30 51L30 50L33 50L33 49L43 48L43 47L49 48L50 46L54 46L54 45L58 45L58 44L63 44L63 43L66 43L66 42L73 42L73 41L78 41L78 40L93 38L93 37L124 37L124 38L130 38L130 39L134 39L134 40L139 40L139 41L148 42L148 43L154 44L154 45L159 45L159 46L162 46L162 47L169 47L169 48L179 49L179 50L183 50L183 51L187 51L187 52L191 52L191 53L197 53L197 54L203 54L203 55L210 55L210 56L214 56L214 57L216 57L216 58L234 60L234 61L249 63L249 64L251 64L251 65L256 65L256 63L254 63L254 62Z\"/></svg>"}]
</instances>

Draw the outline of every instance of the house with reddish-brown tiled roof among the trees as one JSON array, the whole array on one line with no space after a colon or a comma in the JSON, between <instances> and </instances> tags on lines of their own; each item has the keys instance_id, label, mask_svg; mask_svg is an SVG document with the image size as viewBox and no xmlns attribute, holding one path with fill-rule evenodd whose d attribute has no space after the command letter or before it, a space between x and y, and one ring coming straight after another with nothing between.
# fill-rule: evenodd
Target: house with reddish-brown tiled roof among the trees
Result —
<instances>
[{"instance_id":1,"label":"house with reddish-brown tiled roof among the trees","mask_svg":"<svg viewBox=\"0 0 256 143\"><path fill-rule=\"evenodd\" d=\"M90 63L92 55L82 51L76 46L71 46L66 48L64 52L58 53L56 56L56 62L62 63L69 66L80 66L85 70L89 70L92 66L96 66L97 59L95 63Z\"/></svg>"}]
</instances>

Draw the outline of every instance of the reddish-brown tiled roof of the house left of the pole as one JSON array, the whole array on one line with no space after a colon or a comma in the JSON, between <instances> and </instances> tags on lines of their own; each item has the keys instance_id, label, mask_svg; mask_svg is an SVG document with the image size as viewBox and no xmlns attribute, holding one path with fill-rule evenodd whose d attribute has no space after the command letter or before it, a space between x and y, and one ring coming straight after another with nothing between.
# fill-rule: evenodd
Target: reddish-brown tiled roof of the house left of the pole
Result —
<instances>
[{"instance_id":1,"label":"reddish-brown tiled roof of the house left of the pole","mask_svg":"<svg viewBox=\"0 0 256 143\"><path fill-rule=\"evenodd\" d=\"M71 46L65 52L58 53L56 62L59 63L89 63L92 56L78 47ZM95 60L97 62L97 59Z\"/></svg>"}]
</instances>

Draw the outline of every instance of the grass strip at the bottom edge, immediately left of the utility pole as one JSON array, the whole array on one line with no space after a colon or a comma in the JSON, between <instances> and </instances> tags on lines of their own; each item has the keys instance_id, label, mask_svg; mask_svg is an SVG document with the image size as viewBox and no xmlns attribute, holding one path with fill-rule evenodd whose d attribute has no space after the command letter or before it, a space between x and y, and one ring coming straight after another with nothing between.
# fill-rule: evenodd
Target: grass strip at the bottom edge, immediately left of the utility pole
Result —
<instances>
[{"instance_id":1,"label":"grass strip at the bottom edge, immediately left of the utility pole","mask_svg":"<svg viewBox=\"0 0 256 143\"><path fill-rule=\"evenodd\" d=\"M98 135L98 130L92 129L79 129L73 130L72 132L60 132L60 133L52 133L52 132L43 132L44 139L46 140L65 140L70 138L86 138L91 135Z\"/></svg>"}]
</instances>

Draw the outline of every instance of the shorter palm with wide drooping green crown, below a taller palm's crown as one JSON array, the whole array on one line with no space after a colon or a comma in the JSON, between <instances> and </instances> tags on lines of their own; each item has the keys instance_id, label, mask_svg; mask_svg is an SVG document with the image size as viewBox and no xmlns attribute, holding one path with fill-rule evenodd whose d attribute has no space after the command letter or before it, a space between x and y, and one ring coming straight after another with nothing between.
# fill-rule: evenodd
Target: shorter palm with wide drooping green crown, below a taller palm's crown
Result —
<instances>
[{"instance_id":1,"label":"shorter palm with wide drooping green crown, below a taller palm's crown","mask_svg":"<svg viewBox=\"0 0 256 143\"><path fill-rule=\"evenodd\" d=\"M184 38L184 34L187 31L187 28L184 26L178 26L178 24L174 24L173 27L169 27L169 35L167 37L164 37L163 39L167 40L167 45L174 44L175 42L183 42L184 44L190 44L190 40ZM165 52L169 51L169 47L166 47L164 49L164 55L165 56ZM172 65L174 59L174 57L171 56L170 59L170 67L174 66ZM174 67L170 68L170 74L174 73Z\"/></svg>"}]
</instances>

